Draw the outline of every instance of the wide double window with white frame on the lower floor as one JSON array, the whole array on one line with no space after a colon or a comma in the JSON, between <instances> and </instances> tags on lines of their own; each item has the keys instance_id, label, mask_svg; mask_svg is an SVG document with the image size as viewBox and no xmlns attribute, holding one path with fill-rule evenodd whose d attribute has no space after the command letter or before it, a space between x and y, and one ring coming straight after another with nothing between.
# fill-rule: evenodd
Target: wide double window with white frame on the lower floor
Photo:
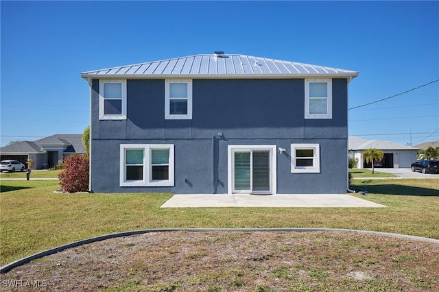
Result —
<instances>
[{"instance_id":1,"label":"wide double window with white frame on the lower floor","mask_svg":"<svg viewBox=\"0 0 439 292\"><path fill-rule=\"evenodd\" d=\"M121 186L174 186L174 145L122 144Z\"/></svg>"}]
</instances>

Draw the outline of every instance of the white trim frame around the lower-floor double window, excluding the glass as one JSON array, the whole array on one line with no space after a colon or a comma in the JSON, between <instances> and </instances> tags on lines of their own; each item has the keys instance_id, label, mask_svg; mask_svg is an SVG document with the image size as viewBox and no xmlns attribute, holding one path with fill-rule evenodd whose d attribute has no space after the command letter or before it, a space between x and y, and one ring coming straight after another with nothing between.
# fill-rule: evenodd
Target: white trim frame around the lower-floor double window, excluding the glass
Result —
<instances>
[{"instance_id":1,"label":"white trim frame around the lower-floor double window, excluding the glass","mask_svg":"<svg viewBox=\"0 0 439 292\"><path fill-rule=\"evenodd\" d=\"M143 180L127 181L126 149L143 149ZM152 181L151 150L169 149L169 180ZM120 186L174 186L174 144L121 144L120 145Z\"/></svg>"}]
</instances>

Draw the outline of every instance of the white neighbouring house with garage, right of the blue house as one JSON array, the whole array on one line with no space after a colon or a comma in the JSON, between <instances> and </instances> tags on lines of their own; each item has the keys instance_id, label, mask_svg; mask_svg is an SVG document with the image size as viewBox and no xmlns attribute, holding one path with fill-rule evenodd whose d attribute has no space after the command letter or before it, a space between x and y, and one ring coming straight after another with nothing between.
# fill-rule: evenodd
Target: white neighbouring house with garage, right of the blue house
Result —
<instances>
[{"instance_id":1,"label":"white neighbouring house with garage, right of the blue house","mask_svg":"<svg viewBox=\"0 0 439 292\"><path fill-rule=\"evenodd\" d=\"M370 168L372 165L366 163L363 158L363 151L376 148L383 151L384 157L381 161L375 162L374 167L384 168L410 168L416 161L419 149L390 141L366 140L355 136L349 136L349 157L358 158L357 168Z\"/></svg>"}]
</instances>

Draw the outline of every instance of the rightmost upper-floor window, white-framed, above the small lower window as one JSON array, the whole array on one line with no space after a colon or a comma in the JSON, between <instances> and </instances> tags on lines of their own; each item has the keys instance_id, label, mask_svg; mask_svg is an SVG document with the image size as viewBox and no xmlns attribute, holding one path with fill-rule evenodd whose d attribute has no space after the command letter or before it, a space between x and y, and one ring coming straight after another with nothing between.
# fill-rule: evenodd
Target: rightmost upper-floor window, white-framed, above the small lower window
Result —
<instances>
[{"instance_id":1,"label":"rightmost upper-floor window, white-framed, above the small lower window","mask_svg":"<svg viewBox=\"0 0 439 292\"><path fill-rule=\"evenodd\" d=\"M305 119L332 119L332 80L305 80Z\"/></svg>"}]
</instances>

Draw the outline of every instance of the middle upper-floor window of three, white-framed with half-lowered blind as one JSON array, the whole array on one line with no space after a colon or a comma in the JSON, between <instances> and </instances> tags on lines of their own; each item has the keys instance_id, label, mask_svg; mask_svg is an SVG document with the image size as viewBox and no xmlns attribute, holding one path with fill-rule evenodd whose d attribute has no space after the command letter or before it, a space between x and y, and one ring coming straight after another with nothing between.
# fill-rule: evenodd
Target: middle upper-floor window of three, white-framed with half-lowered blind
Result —
<instances>
[{"instance_id":1,"label":"middle upper-floor window of three, white-framed with half-lowered blind","mask_svg":"<svg viewBox=\"0 0 439 292\"><path fill-rule=\"evenodd\" d=\"M165 81L165 119L192 119L192 80Z\"/></svg>"}]
</instances>

